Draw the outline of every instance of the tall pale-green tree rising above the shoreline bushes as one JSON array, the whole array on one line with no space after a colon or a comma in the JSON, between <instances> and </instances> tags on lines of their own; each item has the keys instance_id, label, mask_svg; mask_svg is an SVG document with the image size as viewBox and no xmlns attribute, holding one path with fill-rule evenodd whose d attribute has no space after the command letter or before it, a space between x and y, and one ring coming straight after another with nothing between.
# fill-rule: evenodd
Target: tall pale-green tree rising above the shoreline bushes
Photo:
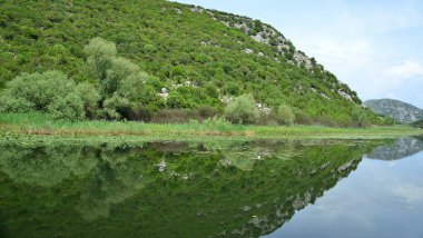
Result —
<instances>
[{"instance_id":1,"label":"tall pale-green tree rising above the shoreline bushes","mask_svg":"<svg viewBox=\"0 0 423 238\"><path fill-rule=\"evenodd\" d=\"M149 76L130 60L118 57L114 42L95 38L85 52L88 54L87 63L97 77L102 99L100 105L108 118L134 119L135 111L141 106L157 109L164 105L155 89L146 85Z\"/></svg>"}]
</instances>

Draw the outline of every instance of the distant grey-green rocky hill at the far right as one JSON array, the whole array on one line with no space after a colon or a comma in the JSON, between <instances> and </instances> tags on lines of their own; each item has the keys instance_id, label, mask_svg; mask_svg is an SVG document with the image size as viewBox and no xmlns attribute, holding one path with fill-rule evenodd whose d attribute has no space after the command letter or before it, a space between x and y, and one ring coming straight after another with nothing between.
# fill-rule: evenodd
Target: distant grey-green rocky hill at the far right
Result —
<instances>
[{"instance_id":1,"label":"distant grey-green rocky hill at the far right","mask_svg":"<svg viewBox=\"0 0 423 238\"><path fill-rule=\"evenodd\" d=\"M422 109L394 99L368 100L364 105L375 113L392 117L400 123L412 123L423 119Z\"/></svg>"}]
</instances>

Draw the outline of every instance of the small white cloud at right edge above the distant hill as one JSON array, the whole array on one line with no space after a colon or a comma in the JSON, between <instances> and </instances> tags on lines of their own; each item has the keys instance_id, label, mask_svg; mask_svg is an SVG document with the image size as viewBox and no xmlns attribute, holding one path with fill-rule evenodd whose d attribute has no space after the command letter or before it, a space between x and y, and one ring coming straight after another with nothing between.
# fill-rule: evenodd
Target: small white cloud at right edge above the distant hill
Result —
<instances>
[{"instance_id":1,"label":"small white cloud at right edge above the distant hill","mask_svg":"<svg viewBox=\"0 0 423 238\"><path fill-rule=\"evenodd\" d=\"M423 77L423 65L413 61L403 61L391 67L386 71L387 78L395 80L407 79L412 77Z\"/></svg>"}]
</instances>

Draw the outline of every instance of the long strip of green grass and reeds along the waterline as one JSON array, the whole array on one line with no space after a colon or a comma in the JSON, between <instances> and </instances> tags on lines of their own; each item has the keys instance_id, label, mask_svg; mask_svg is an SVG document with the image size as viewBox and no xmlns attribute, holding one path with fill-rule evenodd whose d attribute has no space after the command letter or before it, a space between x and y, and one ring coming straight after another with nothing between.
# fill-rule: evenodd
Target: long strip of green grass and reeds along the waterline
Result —
<instances>
[{"instance_id":1,"label":"long strip of green grass and reeds along the waterline","mask_svg":"<svg viewBox=\"0 0 423 238\"><path fill-rule=\"evenodd\" d=\"M53 120L42 113L0 113L2 139L62 138L114 140L199 140L199 139L381 139L423 135L407 126L329 128L321 126L243 126L222 121L157 125L135 121Z\"/></svg>"}]
</instances>

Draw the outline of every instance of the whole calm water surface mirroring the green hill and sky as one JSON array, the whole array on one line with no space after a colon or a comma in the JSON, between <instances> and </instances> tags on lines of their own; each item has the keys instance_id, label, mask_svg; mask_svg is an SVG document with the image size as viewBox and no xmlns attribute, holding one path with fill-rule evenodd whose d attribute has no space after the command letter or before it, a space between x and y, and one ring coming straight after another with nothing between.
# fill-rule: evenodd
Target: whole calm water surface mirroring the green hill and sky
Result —
<instances>
[{"instance_id":1,"label":"whole calm water surface mirroring the green hill and sky","mask_svg":"<svg viewBox=\"0 0 423 238\"><path fill-rule=\"evenodd\" d=\"M0 237L423 237L423 140L0 143Z\"/></svg>"}]
</instances>

